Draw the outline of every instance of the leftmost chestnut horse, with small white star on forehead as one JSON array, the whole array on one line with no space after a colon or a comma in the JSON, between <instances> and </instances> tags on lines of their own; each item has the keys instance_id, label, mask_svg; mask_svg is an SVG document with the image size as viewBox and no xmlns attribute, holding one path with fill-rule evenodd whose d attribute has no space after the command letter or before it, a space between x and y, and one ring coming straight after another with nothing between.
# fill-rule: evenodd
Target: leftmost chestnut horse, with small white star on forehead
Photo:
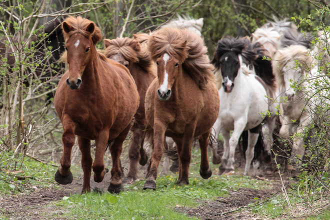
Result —
<instances>
[{"instance_id":1,"label":"leftmost chestnut horse, with small white star on forehead","mask_svg":"<svg viewBox=\"0 0 330 220\"><path fill-rule=\"evenodd\" d=\"M66 41L68 71L59 81L55 108L64 133L60 166L55 180L60 184L72 182L70 155L75 135L81 151L83 169L82 193L90 191L91 168L94 181L101 182L107 169L103 155L109 145L112 156L111 181L108 191L123 190L119 156L122 142L131 127L138 107L138 93L133 78L123 65L100 57L95 44L102 38L94 22L68 17L62 23ZM95 159L92 163L90 140L95 140Z\"/></svg>"}]
</instances>

